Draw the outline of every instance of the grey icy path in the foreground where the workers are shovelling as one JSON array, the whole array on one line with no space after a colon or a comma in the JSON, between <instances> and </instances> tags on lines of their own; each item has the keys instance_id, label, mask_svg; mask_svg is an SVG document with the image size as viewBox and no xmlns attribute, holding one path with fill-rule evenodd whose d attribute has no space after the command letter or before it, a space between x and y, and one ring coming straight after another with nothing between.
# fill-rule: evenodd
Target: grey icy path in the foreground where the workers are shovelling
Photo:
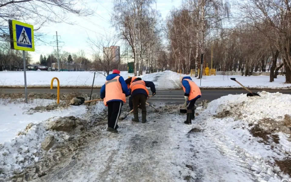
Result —
<instances>
[{"instance_id":1,"label":"grey icy path in the foreground where the workers are shovelling","mask_svg":"<svg viewBox=\"0 0 291 182\"><path fill-rule=\"evenodd\" d=\"M233 149L213 130L188 132L185 115L150 113L146 124L119 122L119 133L100 135L76 159L35 181L256 181ZM219 135L220 136L220 133ZM227 155L226 155L227 153Z\"/></svg>"}]
</instances>

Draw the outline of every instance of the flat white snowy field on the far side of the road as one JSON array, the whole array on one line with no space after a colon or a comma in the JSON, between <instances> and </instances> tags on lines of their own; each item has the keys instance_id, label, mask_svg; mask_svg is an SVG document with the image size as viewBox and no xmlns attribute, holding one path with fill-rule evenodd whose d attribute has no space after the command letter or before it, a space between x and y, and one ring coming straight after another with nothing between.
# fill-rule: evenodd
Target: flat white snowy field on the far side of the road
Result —
<instances>
[{"instance_id":1,"label":"flat white snowy field on the far side of the road","mask_svg":"<svg viewBox=\"0 0 291 182\"><path fill-rule=\"evenodd\" d=\"M28 87L49 87L51 79L57 77L61 87L91 87L94 72L46 72L46 71L27 71ZM121 76L127 79L133 76L127 72L121 72ZM143 80L153 81L157 89L180 89L179 76L176 72L165 71L141 76ZM189 75L182 75L189 76ZM236 78L244 86L250 89L290 89L291 84L284 84L285 76L278 76L275 82L269 82L269 76L203 76L201 87L204 88L241 88L230 78ZM200 86L200 79L192 77ZM56 85L57 81L54 81ZM105 76L96 73L95 87L101 87L105 83ZM0 87L24 87L23 72L0 72Z\"/></svg>"}]
</instances>

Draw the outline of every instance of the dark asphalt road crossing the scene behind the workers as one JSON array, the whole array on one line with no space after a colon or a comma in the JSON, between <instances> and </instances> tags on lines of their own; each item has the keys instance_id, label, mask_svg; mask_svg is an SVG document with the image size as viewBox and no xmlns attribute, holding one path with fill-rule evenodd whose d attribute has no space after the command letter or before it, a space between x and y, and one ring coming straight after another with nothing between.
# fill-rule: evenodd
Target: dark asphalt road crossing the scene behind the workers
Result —
<instances>
[{"instance_id":1,"label":"dark asphalt road crossing the scene behind the workers","mask_svg":"<svg viewBox=\"0 0 291 182\"><path fill-rule=\"evenodd\" d=\"M56 93L56 89L50 89L50 88L28 88L28 93ZM259 92L262 90L252 90L253 92ZM284 94L291 94L291 90L265 90L267 92L271 93L284 93ZM24 93L24 89L11 89L11 88L2 88L2 93ZM60 89L60 93L70 93L70 92L91 92L91 89ZM93 89L93 93L100 93L100 89ZM151 92L149 91L151 94ZM201 90L202 97L197 100L197 103L199 103L201 100L215 100L218 99L221 96L226 96L229 94L247 94L248 92L246 90L232 90L232 89L209 89L209 90ZM128 100L128 98L127 98ZM151 97L150 102L166 102L166 103L183 103L185 102L184 99L184 92L183 90L157 90L156 95Z\"/></svg>"}]
</instances>

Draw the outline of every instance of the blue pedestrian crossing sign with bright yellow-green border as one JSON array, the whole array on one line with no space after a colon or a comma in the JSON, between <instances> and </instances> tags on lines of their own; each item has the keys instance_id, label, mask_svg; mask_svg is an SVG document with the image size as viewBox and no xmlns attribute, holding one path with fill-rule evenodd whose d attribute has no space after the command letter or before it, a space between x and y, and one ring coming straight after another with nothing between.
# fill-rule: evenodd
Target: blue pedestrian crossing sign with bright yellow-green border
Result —
<instances>
[{"instance_id":1,"label":"blue pedestrian crossing sign with bright yellow-green border","mask_svg":"<svg viewBox=\"0 0 291 182\"><path fill-rule=\"evenodd\" d=\"M9 20L11 49L34 51L33 25Z\"/></svg>"}]
</instances>

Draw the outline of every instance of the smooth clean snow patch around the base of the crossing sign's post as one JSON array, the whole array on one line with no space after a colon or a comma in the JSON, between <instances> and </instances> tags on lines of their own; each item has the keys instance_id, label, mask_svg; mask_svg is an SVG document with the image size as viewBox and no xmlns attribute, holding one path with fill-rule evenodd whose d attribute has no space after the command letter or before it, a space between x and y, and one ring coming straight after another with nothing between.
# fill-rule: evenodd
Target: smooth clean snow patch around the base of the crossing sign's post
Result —
<instances>
[{"instance_id":1,"label":"smooth clean snow patch around the base of the crossing sign's post","mask_svg":"<svg viewBox=\"0 0 291 182\"><path fill-rule=\"evenodd\" d=\"M34 112L31 108L47 106L56 103L55 100L34 99L28 104L22 102L6 103L0 99L0 143L13 139L28 123L37 124L52 117L81 116L86 112L84 105L68 107L52 111Z\"/></svg>"}]
</instances>

